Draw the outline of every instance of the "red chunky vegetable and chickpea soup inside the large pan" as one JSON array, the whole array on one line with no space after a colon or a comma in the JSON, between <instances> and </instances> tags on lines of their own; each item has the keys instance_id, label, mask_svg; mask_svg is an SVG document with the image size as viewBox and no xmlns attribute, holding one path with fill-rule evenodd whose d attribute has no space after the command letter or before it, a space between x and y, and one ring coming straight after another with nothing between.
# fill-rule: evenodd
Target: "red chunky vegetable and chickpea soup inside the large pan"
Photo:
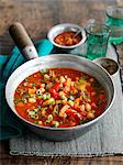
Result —
<instances>
[{"instance_id":1,"label":"red chunky vegetable and chickpea soup inside the large pan","mask_svg":"<svg viewBox=\"0 0 123 165\"><path fill-rule=\"evenodd\" d=\"M107 94L92 76L71 68L42 69L16 88L14 106L25 120L51 128L68 128L99 117Z\"/></svg>"}]
</instances>

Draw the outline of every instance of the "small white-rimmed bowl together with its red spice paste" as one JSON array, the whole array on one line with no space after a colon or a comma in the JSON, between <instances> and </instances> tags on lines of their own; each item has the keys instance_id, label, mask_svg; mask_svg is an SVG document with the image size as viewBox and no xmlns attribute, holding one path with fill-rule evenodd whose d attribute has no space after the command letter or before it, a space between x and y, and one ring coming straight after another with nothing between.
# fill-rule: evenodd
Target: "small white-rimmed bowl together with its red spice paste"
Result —
<instances>
[{"instance_id":1,"label":"small white-rimmed bowl together with its red spice paste","mask_svg":"<svg viewBox=\"0 0 123 165\"><path fill-rule=\"evenodd\" d=\"M66 52L77 48L87 40L86 31L81 26L71 23L53 26L48 31L47 37L56 48Z\"/></svg>"}]
</instances>

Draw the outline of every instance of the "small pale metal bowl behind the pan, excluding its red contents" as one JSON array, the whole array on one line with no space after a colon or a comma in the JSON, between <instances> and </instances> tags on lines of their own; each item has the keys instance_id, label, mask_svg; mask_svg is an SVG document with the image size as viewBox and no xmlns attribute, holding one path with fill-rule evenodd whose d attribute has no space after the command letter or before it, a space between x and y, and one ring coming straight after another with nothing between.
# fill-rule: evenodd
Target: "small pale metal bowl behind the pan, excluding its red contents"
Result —
<instances>
[{"instance_id":1,"label":"small pale metal bowl behind the pan, excluding its red contents","mask_svg":"<svg viewBox=\"0 0 123 165\"><path fill-rule=\"evenodd\" d=\"M54 38L58 35L62 34L63 32L66 31L74 31L77 32L81 30L81 41L78 44L75 45L70 45L70 46L65 46L65 45L59 45L57 43L54 42ZM64 51L70 51L72 48L77 48L78 46L80 46L81 44L85 43L87 36L86 36L86 32L85 30L82 30L81 26L77 25L77 24L71 24L71 23L63 23L63 24L57 24L55 26L53 26L48 33L47 33L47 37L48 40L58 48L62 48Z\"/></svg>"}]
</instances>

